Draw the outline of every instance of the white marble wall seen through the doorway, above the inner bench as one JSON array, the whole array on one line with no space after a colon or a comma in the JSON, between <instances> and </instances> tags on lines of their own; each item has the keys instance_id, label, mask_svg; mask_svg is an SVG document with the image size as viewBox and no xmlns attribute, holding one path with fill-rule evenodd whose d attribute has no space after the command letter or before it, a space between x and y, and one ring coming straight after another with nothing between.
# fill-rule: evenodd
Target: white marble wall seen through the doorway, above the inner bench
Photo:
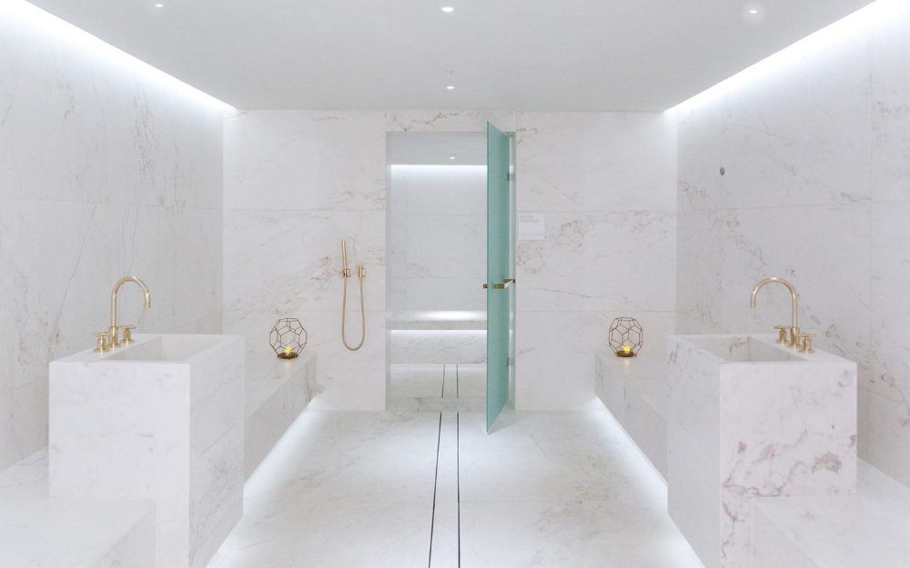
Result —
<instances>
[{"instance_id":1,"label":"white marble wall seen through the doorway, above the inner bench","mask_svg":"<svg viewBox=\"0 0 910 568\"><path fill-rule=\"evenodd\" d=\"M389 309L485 311L487 171L389 168Z\"/></svg>"}]
</instances>

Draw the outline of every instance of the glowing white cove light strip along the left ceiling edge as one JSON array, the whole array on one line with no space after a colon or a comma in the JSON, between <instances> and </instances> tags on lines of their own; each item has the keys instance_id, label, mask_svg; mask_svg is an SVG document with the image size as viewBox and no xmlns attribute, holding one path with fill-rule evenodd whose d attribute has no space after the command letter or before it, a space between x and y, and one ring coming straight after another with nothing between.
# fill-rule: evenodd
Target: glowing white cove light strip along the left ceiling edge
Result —
<instances>
[{"instance_id":1,"label":"glowing white cove light strip along the left ceiling edge","mask_svg":"<svg viewBox=\"0 0 910 568\"><path fill-rule=\"evenodd\" d=\"M141 59L121 51L95 35L91 35L25 0L0 0L0 21L3 21L4 25L9 25L11 29L38 38L51 35L65 48L76 53L105 62L117 71L141 76L149 82L175 90L182 96L207 105L215 105L222 112L236 110L224 101L218 100L192 85L187 85L173 75L167 75L157 67L148 65Z\"/></svg>"}]
</instances>

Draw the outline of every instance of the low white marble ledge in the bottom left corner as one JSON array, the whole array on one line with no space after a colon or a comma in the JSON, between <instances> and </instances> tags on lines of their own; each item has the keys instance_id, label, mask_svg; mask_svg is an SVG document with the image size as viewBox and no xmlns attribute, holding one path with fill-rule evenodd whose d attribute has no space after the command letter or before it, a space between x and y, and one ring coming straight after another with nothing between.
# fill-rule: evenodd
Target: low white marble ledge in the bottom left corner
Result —
<instances>
[{"instance_id":1,"label":"low white marble ledge in the bottom left corner","mask_svg":"<svg viewBox=\"0 0 910 568\"><path fill-rule=\"evenodd\" d=\"M0 472L0 564L152 568L155 504L47 497L47 451Z\"/></svg>"}]
</instances>

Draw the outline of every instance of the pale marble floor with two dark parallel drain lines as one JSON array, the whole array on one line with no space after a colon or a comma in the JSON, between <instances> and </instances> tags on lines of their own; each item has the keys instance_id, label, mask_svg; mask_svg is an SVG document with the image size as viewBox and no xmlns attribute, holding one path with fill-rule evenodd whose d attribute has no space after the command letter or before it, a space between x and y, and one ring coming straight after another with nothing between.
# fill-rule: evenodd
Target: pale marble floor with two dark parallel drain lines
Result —
<instances>
[{"instance_id":1,"label":"pale marble floor with two dark parallel drain lines","mask_svg":"<svg viewBox=\"0 0 910 568\"><path fill-rule=\"evenodd\" d=\"M305 410L209 568L702 566L599 402L506 411L487 435L483 384L479 366L400 366L389 412Z\"/></svg>"}]
</instances>

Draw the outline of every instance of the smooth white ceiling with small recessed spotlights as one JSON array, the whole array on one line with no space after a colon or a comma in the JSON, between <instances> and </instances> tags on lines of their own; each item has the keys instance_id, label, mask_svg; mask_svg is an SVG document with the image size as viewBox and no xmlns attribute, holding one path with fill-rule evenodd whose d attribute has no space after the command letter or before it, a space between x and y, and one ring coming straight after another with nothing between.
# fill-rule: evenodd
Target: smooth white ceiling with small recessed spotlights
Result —
<instances>
[{"instance_id":1,"label":"smooth white ceiling with small recessed spotlights","mask_svg":"<svg viewBox=\"0 0 910 568\"><path fill-rule=\"evenodd\" d=\"M662 111L871 0L31 1L238 108Z\"/></svg>"}]
</instances>

